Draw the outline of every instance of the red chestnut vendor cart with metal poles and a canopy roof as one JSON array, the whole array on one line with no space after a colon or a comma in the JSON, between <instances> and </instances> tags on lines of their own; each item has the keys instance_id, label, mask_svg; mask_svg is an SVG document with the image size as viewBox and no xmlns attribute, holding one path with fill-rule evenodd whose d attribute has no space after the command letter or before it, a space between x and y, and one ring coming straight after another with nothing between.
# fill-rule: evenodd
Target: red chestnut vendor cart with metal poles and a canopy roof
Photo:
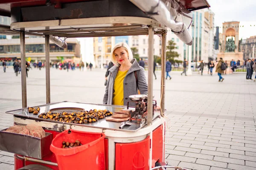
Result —
<instances>
[{"instance_id":1,"label":"red chestnut vendor cart with metal poles and a canopy roof","mask_svg":"<svg viewBox=\"0 0 256 170\"><path fill-rule=\"evenodd\" d=\"M10 11L6 10L6 6ZM64 162L64 157L60 156L62 151L54 153L52 146L51 150L49 149L50 144L53 144L53 141L62 133L66 135L81 133L81 136L84 134L88 140L91 138L91 141L98 139L103 141L101 145L90 143L91 145L85 149L93 146L98 149L89 153L82 151L86 154L84 154L85 157L78 158L81 159L81 164L73 164L73 168L69 169L79 169L84 166L83 169L88 170L149 170L157 165L165 165L166 33L171 28L180 40L187 45L192 45L192 37L188 31L192 22L191 11L207 7L209 4L206 0L9 0L1 2L0 14L10 15L12 23L9 28L2 26L0 31L20 34L22 69L22 108L6 111L6 113L14 115L15 125L39 125L46 132L46 136L42 139L0 132L0 150L15 153L15 170L26 169L26 167L29 169L33 166L35 169L63 169L62 164L67 162ZM33 106L40 108L39 114L53 112L56 109L73 111L77 108L81 109L80 111L107 110L108 113L125 110L140 119L131 117L131 121L128 120L125 123L99 119L97 122L76 124L42 119L37 114L29 113L26 100L25 34L45 37L46 104ZM162 40L159 110L156 109L157 103L153 100L154 34L159 35ZM124 35L148 35L148 94L131 96L130 99L136 103L135 108L70 101L51 103L49 40L65 48L67 46L65 39L70 37ZM143 103L143 106L138 103ZM89 137L93 134L101 135L97 139ZM69 154L68 150L63 152L62 156ZM76 150L76 152L80 151ZM60 158L63 158L62 161ZM96 167L82 164L85 159L90 159Z\"/></svg>"}]
</instances>

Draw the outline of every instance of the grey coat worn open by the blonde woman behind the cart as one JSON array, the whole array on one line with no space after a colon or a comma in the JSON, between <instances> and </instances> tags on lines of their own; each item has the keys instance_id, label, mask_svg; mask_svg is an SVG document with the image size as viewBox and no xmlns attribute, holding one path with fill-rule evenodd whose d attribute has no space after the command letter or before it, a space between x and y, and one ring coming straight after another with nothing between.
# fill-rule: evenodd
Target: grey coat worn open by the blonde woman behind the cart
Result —
<instances>
[{"instance_id":1,"label":"grey coat worn open by the blonde woman behind the cart","mask_svg":"<svg viewBox=\"0 0 256 170\"><path fill-rule=\"evenodd\" d=\"M140 94L148 93L148 84L146 81L144 68L138 64L136 59L133 59L131 63L132 63L131 68L128 70L123 82L124 83L124 105L127 105L127 102L131 101L129 99L129 96L138 94L134 71L137 71L138 88L140 90ZM108 78L108 84L106 86L105 95L103 98L103 104L112 105L114 82L116 79L116 74L119 71L119 66L114 65L112 68L109 69L109 71L110 71L110 76Z\"/></svg>"}]
</instances>

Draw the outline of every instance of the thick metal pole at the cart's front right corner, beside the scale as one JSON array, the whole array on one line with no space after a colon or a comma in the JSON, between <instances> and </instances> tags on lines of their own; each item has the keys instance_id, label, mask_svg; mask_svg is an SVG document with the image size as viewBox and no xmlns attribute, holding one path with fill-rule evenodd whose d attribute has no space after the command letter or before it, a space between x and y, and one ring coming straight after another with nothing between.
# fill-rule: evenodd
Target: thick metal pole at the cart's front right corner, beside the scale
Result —
<instances>
[{"instance_id":1,"label":"thick metal pole at the cart's front right corner, beside the scale","mask_svg":"<svg viewBox=\"0 0 256 170\"><path fill-rule=\"evenodd\" d=\"M154 66L154 30L148 28L148 125L152 124L153 117L153 66Z\"/></svg>"}]
</instances>

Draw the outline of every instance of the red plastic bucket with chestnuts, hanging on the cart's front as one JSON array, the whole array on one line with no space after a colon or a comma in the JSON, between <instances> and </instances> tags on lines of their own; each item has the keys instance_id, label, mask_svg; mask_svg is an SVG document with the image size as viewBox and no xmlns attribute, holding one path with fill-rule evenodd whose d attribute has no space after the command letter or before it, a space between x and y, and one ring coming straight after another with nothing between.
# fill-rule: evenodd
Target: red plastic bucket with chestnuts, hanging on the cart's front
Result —
<instances>
[{"instance_id":1,"label":"red plastic bucket with chestnuts, hanging on the cart's front","mask_svg":"<svg viewBox=\"0 0 256 170\"><path fill-rule=\"evenodd\" d=\"M53 140L50 150L55 153L60 170L105 170L104 133L65 130ZM62 148L62 142L82 144L73 148Z\"/></svg>"}]
</instances>

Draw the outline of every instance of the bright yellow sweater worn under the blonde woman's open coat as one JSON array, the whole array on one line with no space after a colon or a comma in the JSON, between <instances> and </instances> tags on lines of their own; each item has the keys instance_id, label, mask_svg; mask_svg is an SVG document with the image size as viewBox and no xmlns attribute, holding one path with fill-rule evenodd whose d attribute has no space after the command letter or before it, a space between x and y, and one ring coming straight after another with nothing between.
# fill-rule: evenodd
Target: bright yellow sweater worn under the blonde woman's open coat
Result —
<instances>
[{"instance_id":1,"label":"bright yellow sweater worn under the blonde woman's open coat","mask_svg":"<svg viewBox=\"0 0 256 170\"><path fill-rule=\"evenodd\" d=\"M127 71L118 71L114 82L113 105L124 105L124 79Z\"/></svg>"}]
</instances>

